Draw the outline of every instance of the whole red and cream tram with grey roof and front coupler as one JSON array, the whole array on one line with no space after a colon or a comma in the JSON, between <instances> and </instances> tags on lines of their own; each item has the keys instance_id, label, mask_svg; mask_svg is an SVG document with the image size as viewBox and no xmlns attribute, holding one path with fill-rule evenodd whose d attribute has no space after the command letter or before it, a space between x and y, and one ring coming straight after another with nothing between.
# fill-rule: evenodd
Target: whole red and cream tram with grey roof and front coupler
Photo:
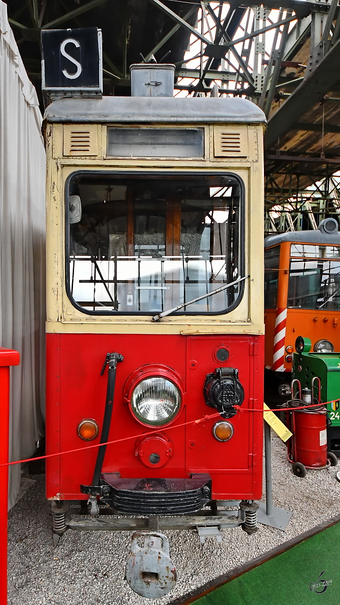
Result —
<instances>
[{"instance_id":1,"label":"whole red and cream tram with grey roof and front coupler","mask_svg":"<svg viewBox=\"0 0 340 605\"><path fill-rule=\"evenodd\" d=\"M47 498L55 543L136 531L126 579L155 598L163 531L257 529L265 118L174 98L174 65L131 79L45 111L47 453L77 450L47 459Z\"/></svg>"}]
</instances>

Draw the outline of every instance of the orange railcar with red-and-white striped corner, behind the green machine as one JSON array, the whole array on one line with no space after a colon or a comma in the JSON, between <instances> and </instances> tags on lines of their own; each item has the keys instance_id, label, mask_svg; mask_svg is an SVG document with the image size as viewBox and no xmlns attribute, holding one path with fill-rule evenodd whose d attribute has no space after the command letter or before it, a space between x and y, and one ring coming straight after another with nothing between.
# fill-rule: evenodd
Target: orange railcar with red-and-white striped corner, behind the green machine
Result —
<instances>
[{"instance_id":1,"label":"orange railcar with red-and-white striped corner, behind the green machine","mask_svg":"<svg viewBox=\"0 0 340 605\"><path fill-rule=\"evenodd\" d=\"M264 241L265 399L289 394L292 352L302 334L316 352L340 350L340 232L335 218L315 231L270 235Z\"/></svg>"}]
</instances>

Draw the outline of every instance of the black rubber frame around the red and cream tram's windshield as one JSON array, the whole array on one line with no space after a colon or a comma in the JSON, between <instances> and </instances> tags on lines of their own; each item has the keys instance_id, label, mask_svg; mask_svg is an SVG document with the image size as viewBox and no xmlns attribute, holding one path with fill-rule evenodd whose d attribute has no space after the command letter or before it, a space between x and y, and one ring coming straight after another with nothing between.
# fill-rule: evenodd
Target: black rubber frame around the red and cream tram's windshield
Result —
<instances>
[{"instance_id":1,"label":"black rubber frame around the red and cream tram's windshield","mask_svg":"<svg viewBox=\"0 0 340 605\"><path fill-rule=\"evenodd\" d=\"M152 316L154 316L154 312L126 312L126 311L122 311L119 312L118 311L90 311L88 309L84 309L83 307L80 307L79 304L77 304L77 302L74 300L72 294L71 294L71 289L70 289L70 223L69 223L69 207L68 204L66 203L68 200L68 197L70 195L70 184L72 179L74 178L75 175L81 175L81 176L90 176L93 174L97 174L100 176L100 174L102 174L103 176L107 177L108 175L113 175L114 177L121 177L121 178L128 178L129 176L132 177L139 177L139 178L143 178L143 177L160 177L162 178L162 176L171 176L175 178L178 177L202 177L204 176L215 176L215 177L232 177L235 178L235 180L238 181L239 185L240 185L240 274L241 276L244 276L244 272L245 272L245 260L246 260L246 255L245 255L245 245L246 245L246 238L245 238L245 224L246 224L246 217L245 217L245 208L246 208L246 187L244 185L244 181L243 179L238 175L238 174L234 174L233 172L230 171L226 171L226 172L222 172L222 171L203 171L203 170L198 170L198 171L180 171L180 170L175 170L175 171L151 171L151 170L145 170L145 171L136 171L136 170L102 170L102 169L93 169L93 170L76 170L74 172L71 172L71 174L68 175L66 181L65 181L65 188L64 188L64 210L65 210L65 289L66 289L66 293L68 296L68 299L70 300L72 306L77 309L78 311L80 311L81 313L84 313L85 315L91 315L91 316L96 316L96 317L103 317L103 316L110 316L110 317L120 317L120 316L127 316L127 317L148 317L148 318L152 318ZM206 316L212 316L212 315L227 315L228 313L234 311L234 309L236 309L238 307L238 305L241 303L243 296L244 296L244 280L241 281L240 284L240 292L238 294L237 299L230 305L230 307L228 307L227 309L223 309L221 311L194 311L194 312L188 312L188 311L177 311L174 313L171 313L172 317L178 317L178 316L182 316L182 315L188 315L188 316L195 316L195 315L203 315L204 317Z\"/></svg>"}]
</instances>

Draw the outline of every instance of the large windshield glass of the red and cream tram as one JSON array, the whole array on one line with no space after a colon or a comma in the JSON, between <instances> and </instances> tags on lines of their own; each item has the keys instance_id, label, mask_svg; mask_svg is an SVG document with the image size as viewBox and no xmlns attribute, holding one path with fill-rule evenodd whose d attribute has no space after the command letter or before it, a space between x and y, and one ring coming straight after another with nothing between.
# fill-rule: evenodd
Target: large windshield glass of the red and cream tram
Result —
<instances>
[{"instance_id":1,"label":"large windshield glass of the red and cream tram","mask_svg":"<svg viewBox=\"0 0 340 605\"><path fill-rule=\"evenodd\" d=\"M67 191L68 295L85 312L163 312L243 276L237 177L76 173ZM226 312L242 291L183 312Z\"/></svg>"}]
</instances>

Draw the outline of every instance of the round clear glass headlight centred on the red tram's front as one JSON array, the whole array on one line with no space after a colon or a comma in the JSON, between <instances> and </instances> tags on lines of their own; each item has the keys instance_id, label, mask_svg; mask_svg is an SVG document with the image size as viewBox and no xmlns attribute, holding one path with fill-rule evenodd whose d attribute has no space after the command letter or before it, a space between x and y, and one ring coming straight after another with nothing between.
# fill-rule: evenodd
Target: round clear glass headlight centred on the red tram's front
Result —
<instances>
[{"instance_id":1,"label":"round clear glass headlight centred on the red tram's front","mask_svg":"<svg viewBox=\"0 0 340 605\"><path fill-rule=\"evenodd\" d=\"M162 376L152 376L137 384L131 395L132 413L140 422L152 426L168 424L181 405L176 385Z\"/></svg>"}]
</instances>

